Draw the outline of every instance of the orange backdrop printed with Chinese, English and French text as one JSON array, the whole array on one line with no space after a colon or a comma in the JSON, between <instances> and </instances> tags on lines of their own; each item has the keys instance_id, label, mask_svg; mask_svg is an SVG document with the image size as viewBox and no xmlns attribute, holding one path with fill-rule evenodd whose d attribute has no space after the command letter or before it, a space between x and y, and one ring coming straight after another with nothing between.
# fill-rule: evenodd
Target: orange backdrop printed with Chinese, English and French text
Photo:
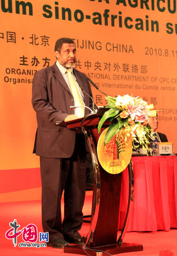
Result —
<instances>
[{"instance_id":1,"label":"orange backdrop printed with Chinese, English and French text","mask_svg":"<svg viewBox=\"0 0 177 256\"><path fill-rule=\"evenodd\" d=\"M153 103L158 131L177 152L177 24L173 1L1 0L0 169L38 168L32 154L36 120L31 105L36 70L54 64L54 44L71 37L77 69L111 96ZM152 1L153 2L153 1ZM174 1L176 3L176 1ZM176 31L175 31L176 28ZM97 105L105 98L92 88Z\"/></svg>"}]
</instances>

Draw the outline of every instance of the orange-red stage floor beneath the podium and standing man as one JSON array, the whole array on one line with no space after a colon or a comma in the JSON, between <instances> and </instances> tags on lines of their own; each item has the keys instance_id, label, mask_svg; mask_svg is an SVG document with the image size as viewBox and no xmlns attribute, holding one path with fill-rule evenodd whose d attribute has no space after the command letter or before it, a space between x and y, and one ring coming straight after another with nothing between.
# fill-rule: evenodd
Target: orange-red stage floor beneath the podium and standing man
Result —
<instances>
[{"instance_id":1,"label":"orange-red stage floor beneath the podium and standing man","mask_svg":"<svg viewBox=\"0 0 177 256\"><path fill-rule=\"evenodd\" d=\"M85 215L90 213L92 196L86 196L83 212ZM63 203L62 203L63 204ZM5 233L12 228L9 223L17 220L20 224L19 229L28 224L35 224L38 233L42 232L41 223L41 201L10 202L0 204L0 255L2 256L75 256L76 254L64 253L63 249L56 248L19 248L18 244L23 242L22 234L17 237L17 245L14 247L12 239L7 239ZM84 223L81 228L81 235L86 236L89 231L89 224ZM143 244L143 251L128 252L126 256L158 256L162 250L169 250L177 256L177 229L158 232L127 232L123 240L127 243ZM163 254L167 256L168 254Z\"/></svg>"}]
</instances>

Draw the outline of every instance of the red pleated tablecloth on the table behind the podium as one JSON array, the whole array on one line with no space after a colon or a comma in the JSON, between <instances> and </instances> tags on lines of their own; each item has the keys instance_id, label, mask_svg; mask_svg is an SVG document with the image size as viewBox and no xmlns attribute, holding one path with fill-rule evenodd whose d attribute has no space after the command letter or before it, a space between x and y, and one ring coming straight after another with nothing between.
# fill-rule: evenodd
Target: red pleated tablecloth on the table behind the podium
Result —
<instances>
[{"instance_id":1,"label":"red pleated tablecloth on the table behind the podium","mask_svg":"<svg viewBox=\"0 0 177 256\"><path fill-rule=\"evenodd\" d=\"M177 156L135 156L134 202L127 231L177 228ZM128 171L123 171L119 227L122 228L127 198Z\"/></svg>"}]
</instances>

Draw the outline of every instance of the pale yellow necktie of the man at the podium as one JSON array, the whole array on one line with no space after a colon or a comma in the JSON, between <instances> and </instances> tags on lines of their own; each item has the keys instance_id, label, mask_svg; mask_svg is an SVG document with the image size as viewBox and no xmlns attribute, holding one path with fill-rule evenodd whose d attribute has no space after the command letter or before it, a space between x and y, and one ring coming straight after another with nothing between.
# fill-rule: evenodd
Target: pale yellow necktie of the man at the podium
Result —
<instances>
[{"instance_id":1,"label":"pale yellow necktie of the man at the podium","mask_svg":"<svg viewBox=\"0 0 177 256\"><path fill-rule=\"evenodd\" d=\"M71 87L71 92L72 92L72 95L73 95L73 98L74 98L75 106L76 107L77 106L83 106L84 103L83 103L81 95L79 94L79 91L77 89L77 85L76 85L76 83L74 81L74 78L73 78L73 75L71 73L71 70L68 69L67 73L68 73L69 84L70 84L70 87ZM76 115L79 118L84 117L84 113L85 113L84 108L76 108Z\"/></svg>"}]
</instances>

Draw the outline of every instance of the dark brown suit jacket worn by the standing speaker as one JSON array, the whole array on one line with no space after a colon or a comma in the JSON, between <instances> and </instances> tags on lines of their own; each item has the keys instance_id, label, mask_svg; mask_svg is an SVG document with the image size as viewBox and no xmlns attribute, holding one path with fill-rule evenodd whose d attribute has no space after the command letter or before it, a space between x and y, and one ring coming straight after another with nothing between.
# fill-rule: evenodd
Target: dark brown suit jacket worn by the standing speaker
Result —
<instances>
[{"instance_id":1,"label":"dark brown suit jacket worn by the standing speaker","mask_svg":"<svg viewBox=\"0 0 177 256\"><path fill-rule=\"evenodd\" d=\"M92 96L85 74L73 69L77 80L85 92ZM92 100L84 95L85 105L90 107ZM36 111L38 129L35 138L34 153L38 156L67 158L72 156L76 131L55 125L55 121L64 121L71 115L70 105L73 96L56 63L35 73L32 88L32 104ZM85 108L85 115L89 110Z\"/></svg>"}]
</instances>

